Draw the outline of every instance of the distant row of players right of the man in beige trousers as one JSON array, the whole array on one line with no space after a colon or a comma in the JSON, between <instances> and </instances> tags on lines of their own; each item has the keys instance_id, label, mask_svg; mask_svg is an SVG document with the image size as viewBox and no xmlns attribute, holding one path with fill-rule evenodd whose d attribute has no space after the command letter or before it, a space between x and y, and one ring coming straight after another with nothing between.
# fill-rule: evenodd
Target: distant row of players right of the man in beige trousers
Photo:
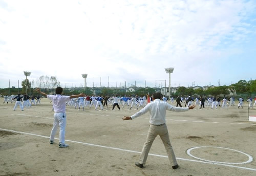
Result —
<instances>
[{"instance_id":1,"label":"distant row of players right of the man in beige trousers","mask_svg":"<svg viewBox=\"0 0 256 176\"><path fill-rule=\"evenodd\" d=\"M178 105L180 107L182 107L182 105L180 104L181 102L183 102L183 98L182 97L177 97L177 105L176 107L178 107ZM191 96L188 96L187 98L185 98L185 107L189 107L190 105L192 105L194 103L194 105L199 105L200 109L203 107L203 109L205 108L205 106L207 105L207 107L210 107L211 109L217 109L218 106L221 106L222 103L222 108L227 108L227 106L231 107L234 106L234 98L229 97L229 98L223 98L221 100L220 97L208 97L208 98L204 98L203 96L201 96L200 98L197 97L195 98L195 100L193 98L191 98ZM248 107L253 107L256 104L256 97L254 98L254 104L252 105L252 98L248 97L247 101L248 102ZM244 103L244 99L242 97L240 97L238 99L238 108L243 108L243 103Z\"/></svg>"}]
</instances>

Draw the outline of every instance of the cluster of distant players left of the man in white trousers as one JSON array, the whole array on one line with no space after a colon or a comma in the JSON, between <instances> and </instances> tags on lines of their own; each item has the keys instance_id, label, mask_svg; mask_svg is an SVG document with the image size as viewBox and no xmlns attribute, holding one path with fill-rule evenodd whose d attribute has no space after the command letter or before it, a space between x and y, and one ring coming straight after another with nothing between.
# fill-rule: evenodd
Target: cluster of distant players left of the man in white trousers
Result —
<instances>
[{"instance_id":1,"label":"cluster of distant players left of the man in white trousers","mask_svg":"<svg viewBox=\"0 0 256 176\"><path fill-rule=\"evenodd\" d=\"M34 104L36 105L37 103L41 104L40 100L41 100L41 97L40 95L37 95L37 96L29 96L29 95L26 95L26 93L24 93L23 96L20 96L20 94L18 94L17 96L15 95L11 95L11 96L4 96L4 104L5 102L8 104L8 102L15 102L15 105L13 107L13 111L15 111L16 107L19 105L20 109L22 111L24 111L24 107L31 107L31 104ZM36 100L36 102L35 102Z\"/></svg>"}]
</instances>

